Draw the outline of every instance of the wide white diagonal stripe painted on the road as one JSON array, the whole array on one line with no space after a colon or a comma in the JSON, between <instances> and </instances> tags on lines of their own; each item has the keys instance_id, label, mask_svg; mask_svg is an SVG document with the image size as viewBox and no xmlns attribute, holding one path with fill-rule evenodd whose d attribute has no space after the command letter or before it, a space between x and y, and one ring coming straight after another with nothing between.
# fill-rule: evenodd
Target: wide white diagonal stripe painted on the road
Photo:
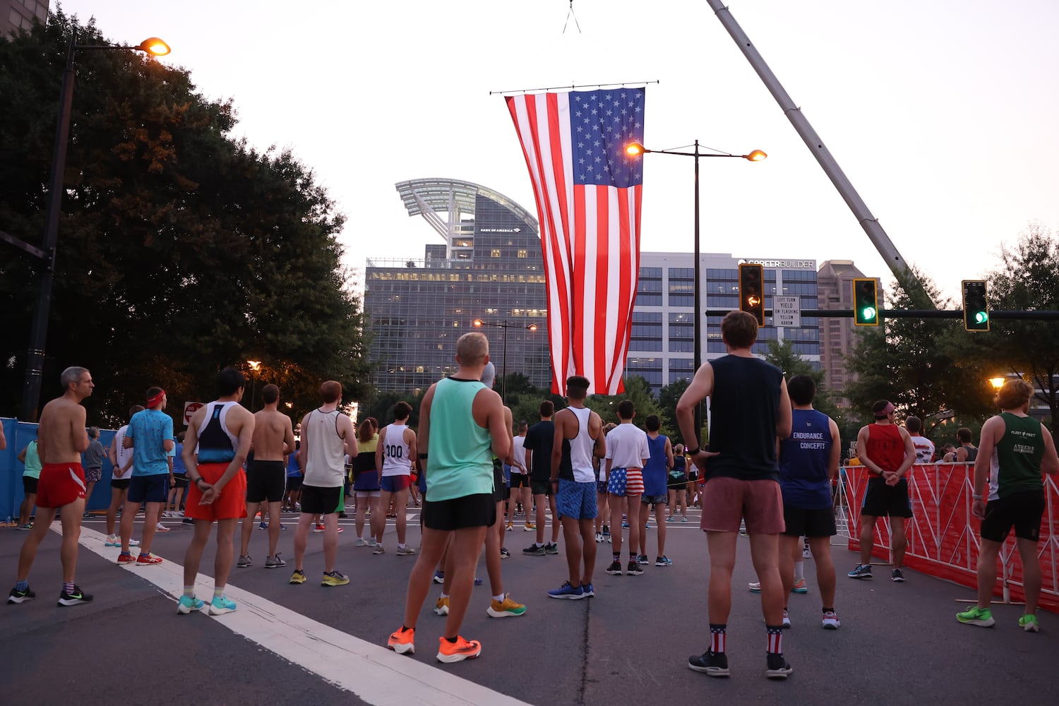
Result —
<instances>
[{"instance_id":1,"label":"wide white diagonal stripe painted on the road","mask_svg":"<svg viewBox=\"0 0 1059 706\"><path fill-rule=\"evenodd\" d=\"M62 533L58 523L52 529ZM105 547L105 542L106 535L82 527L80 544L85 548L104 559L116 561L121 549ZM141 567L125 565L122 568L155 584L174 600L183 594L184 569L176 562L164 561ZM213 595L213 579L209 576L199 574L195 585L199 596L209 598ZM444 669L409 659L381 645L317 622L231 583L225 589L225 594L238 604L238 610L208 617L374 706L528 706L525 702ZM202 614L207 615L207 611L203 610ZM189 616L186 619L201 618ZM433 649L431 640L427 640L420 649Z\"/></svg>"}]
</instances>

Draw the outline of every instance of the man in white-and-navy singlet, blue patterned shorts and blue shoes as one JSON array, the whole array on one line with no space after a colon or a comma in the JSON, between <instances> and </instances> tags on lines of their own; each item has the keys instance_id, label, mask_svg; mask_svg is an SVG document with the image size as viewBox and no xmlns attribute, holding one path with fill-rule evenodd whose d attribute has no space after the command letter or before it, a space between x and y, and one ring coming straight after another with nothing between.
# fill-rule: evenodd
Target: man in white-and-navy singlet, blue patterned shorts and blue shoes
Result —
<instances>
[{"instance_id":1,"label":"man in white-and-navy singlet, blue patterned shorts and blue shoes","mask_svg":"<svg viewBox=\"0 0 1059 706\"><path fill-rule=\"evenodd\" d=\"M603 419L585 406L589 384L588 378L580 375L568 378L567 402L570 406L555 414L552 484L558 489L555 505L562 519L570 580L558 589L549 591L548 595L552 598L578 600L595 595L592 571L595 568L593 529L597 510L592 456L602 458L607 447L603 436ZM582 554L584 574L580 571Z\"/></svg>"}]
</instances>

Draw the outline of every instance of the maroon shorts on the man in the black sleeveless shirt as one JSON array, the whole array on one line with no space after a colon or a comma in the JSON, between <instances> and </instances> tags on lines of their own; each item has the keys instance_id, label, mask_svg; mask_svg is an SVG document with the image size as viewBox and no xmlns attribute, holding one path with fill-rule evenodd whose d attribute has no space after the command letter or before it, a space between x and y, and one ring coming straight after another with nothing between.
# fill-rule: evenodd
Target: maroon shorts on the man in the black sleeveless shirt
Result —
<instances>
[{"instance_id":1,"label":"maroon shorts on the man in the black sleeveless shirt","mask_svg":"<svg viewBox=\"0 0 1059 706\"><path fill-rule=\"evenodd\" d=\"M717 475L702 488L703 531L737 532L747 521L750 535L784 531L784 497L775 481L743 481Z\"/></svg>"}]
</instances>

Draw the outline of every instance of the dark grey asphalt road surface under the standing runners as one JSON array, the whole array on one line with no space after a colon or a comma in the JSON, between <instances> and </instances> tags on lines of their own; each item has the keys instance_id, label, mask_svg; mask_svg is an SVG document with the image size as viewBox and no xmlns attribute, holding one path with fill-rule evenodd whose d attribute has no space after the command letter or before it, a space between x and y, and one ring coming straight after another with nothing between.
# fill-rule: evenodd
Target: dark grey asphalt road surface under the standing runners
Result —
<instances>
[{"instance_id":1,"label":"dark grey asphalt road surface under the standing runners","mask_svg":"<svg viewBox=\"0 0 1059 706\"><path fill-rule=\"evenodd\" d=\"M414 508L409 511L413 546L418 543L416 513ZM533 533L524 532L519 523L515 531L506 533L506 545L514 556L503 562L504 589L527 605L526 613L489 618L485 613L488 581L475 589L462 633L480 639L483 652L480 658L457 665L439 665L434 659L444 618L430 608L439 586L432 587L424 607L417 629L418 652L398 657L382 647L401 622L408 574L415 562L415 557L394 554L392 520L385 537L388 553L382 556L355 547L352 520L342 522L346 531L340 537L338 568L352 581L340 587L323 587L317 580L323 571L320 535L309 539L309 581L287 583L294 515L285 515L288 529L280 542L280 550L289 562L287 568L264 568L266 532L255 529L251 543L254 565L233 568L230 583L259 597L263 604L274 603L304 617L310 626L305 629L310 638L313 630L322 631L319 626L338 631L327 633L326 639L351 636L360 647L351 648L348 657L341 652L338 664L356 670L357 678L345 683L329 678L324 669L318 670L323 675L313 671L320 659L317 652L297 648L286 652L287 657L276 654L282 652L275 648L276 640L287 639L280 621L269 639L263 639L254 636L257 633L244 636L232 632L235 616L244 617L239 613L214 619L178 616L175 598L144 579L161 567L119 567L109 554L105 558L83 547L77 582L93 593L95 600L57 608L59 537L50 535L31 575L37 600L0 609L2 701L304 704L341 699L353 704L456 703L466 683L444 682L456 675L499 692L495 698L475 694L475 703L496 703L502 700L500 694L532 704L608 706L705 700L740 704L1055 702L1052 670L1059 658L1059 617L1043 614L1038 634L1018 628L1018 607L995 607L998 622L992 629L959 624L953 616L965 604L955 599L972 597L970 590L911 571L905 572L903 584L892 583L885 567L877 569L873 581L847 579L844 573L857 559L838 538L832 554L840 573L836 608L842 628L821 628L813 565L807 561L810 592L791 596L793 628L784 636L785 653L794 668L790 678L772 682L764 675L766 636L758 597L746 587L754 580L747 540L739 543L729 620L732 676L717 680L688 670L687 656L704 651L707 644L708 564L697 519L693 512L688 524L669 526L666 554L674 561L671 567L653 565L656 530L649 530L651 564L644 567L643 576L607 576L603 569L610 561L610 545L596 545L596 597L580 601L546 596L549 589L566 578L564 557L522 556L521 549ZM173 531L157 536L154 551L166 562L179 564L191 527L179 521L166 524ZM87 520L85 527L105 531L102 518ZM0 529L0 565L12 584L24 536L13 528ZM116 549L106 551L116 557ZM211 545L200 571L211 574L212 563ZM486 578L484 561L479 576ZM199 595L207 597L201 591ZM268 612L255 605L244 613L248 611ZM263 644L272 647L267 649ZM338 655L344 648L334 649ZM409 670L407 678L401 677L401 670ZM379 684L390 685L383 680L394 673L397 686L387 686L384 696L365 687L373 674L379 675ZM453 694L455 702L447 701ZM465 701L471 700L469 691L467 694Z\"/></svg>"}]
</instances>

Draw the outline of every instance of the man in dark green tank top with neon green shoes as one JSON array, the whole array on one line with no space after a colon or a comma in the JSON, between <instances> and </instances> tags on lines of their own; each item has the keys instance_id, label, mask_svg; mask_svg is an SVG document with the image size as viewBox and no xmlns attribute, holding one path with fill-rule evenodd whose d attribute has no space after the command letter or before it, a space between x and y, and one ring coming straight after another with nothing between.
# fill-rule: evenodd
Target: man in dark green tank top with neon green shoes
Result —
<instances>
[{"instance_id":1,"label":"man in dark green tank top with neon green shoes","mask_svg":"<svg viewBox=\"0 0 1059 706\"><path fill-rule=\"evenodd\" d=\"M1040 629L1037 601L1041 595L1041 564L1037 542L1044 513L1041 473L1055 475L1059 457L1047 428L1029 416L1033 396L1034 387L1025 380L1008 380L997 394L1001 413L982 427L971 495L971 511L982 520L979 604L956 614L956 619L967 624L988 628L994 622L989 601L997 585L997 557L1013 527L1026 594L1026 612L1019 618L1019 627L1026 632Z\"/></svg>"}]
</instances>

